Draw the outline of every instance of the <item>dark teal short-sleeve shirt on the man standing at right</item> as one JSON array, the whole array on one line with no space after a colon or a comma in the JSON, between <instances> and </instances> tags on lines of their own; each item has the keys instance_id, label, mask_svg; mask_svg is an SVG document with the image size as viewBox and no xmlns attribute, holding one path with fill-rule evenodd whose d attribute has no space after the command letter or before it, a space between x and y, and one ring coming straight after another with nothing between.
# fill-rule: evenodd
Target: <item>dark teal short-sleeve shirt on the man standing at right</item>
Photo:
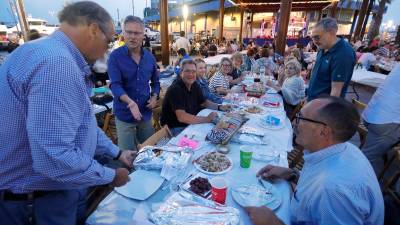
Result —
<instances>
[{"instance_id":1,"label":"dark teal short-sleeve shirt on the man standing at right","mask_svg":"<svg viewBox=\"0 0 400 225\"><path fill-rule=\"evenodd\" d=\"M308 101L322 94L330 94L332 82L344 82L340 97L344 97L353 75L356 54L349 43L340 39L332 48L317 55L308 88Z\"/></svg>"}]
</instances>

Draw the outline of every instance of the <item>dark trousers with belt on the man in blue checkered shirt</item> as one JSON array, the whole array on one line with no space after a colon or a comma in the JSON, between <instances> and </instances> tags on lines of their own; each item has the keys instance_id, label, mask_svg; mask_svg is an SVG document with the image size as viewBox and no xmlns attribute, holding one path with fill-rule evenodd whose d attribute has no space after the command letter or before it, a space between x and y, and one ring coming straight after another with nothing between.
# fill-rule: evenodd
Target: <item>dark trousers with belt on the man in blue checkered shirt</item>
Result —
<instances>
[{"instance_id":1,"label":"dark trousers with belt on the man in blue checkered shirt","mask_svg":"<svg viewBox=\"0 0 400 225\"><path fill-rule=\"evenodd\" d=\"M86 189L52 191L28 200L0 200L1 225L83 224Z\"/></svg>"}]
</instances>

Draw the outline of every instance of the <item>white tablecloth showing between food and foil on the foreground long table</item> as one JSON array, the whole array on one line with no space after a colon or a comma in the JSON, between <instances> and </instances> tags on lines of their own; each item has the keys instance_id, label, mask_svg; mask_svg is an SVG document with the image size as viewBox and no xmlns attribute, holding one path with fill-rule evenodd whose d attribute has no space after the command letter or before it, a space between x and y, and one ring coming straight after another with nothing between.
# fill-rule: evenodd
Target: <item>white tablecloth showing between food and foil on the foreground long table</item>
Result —
<instances>
[{"instance_id":1,"label":"white tablecloth showing between food and foil on the foreground long table","mask_svg":"<svg viewBox=\"0 0 400 225\"><path fill-rule=\"evenodd\" d=\"M283 104L281 104L282 107ZM202 110L199 115L206 116L211 112L209 109ZM221 113L221 112L219 112ZM257 124L259 123L259 117L261 115L252 115L247 123ZM275 164L283 167L288 167L287 162L287 152L292 149L292 127L288 118L285 121L285 127L280 130L265 130L267 137L269 138L269 144L260 146L264 148L265 151L274 148L279 152L279 160ZM193 139L198 140L201 143L201 148L194 152L194 157L197 158L201 154L208 151L215 150L215 145L206 142L206 134L213 128L213 124L196 124L188 126L180 135L169 141L169 144L174 144L183 135L188 137L194 137ZM251 167L249 169L244 169L240 167L240 146L238 143L230 143L229 147L231 149L228 156L233 161L233 168L224 175L225 179L228 181L229 187L235 186L238 183L245 184L257 184L256 172L266 165L265 162L252 160ZM190 163L189 170L194 169L193 165ZM276 210L278 217L285 223L290 224L290 196L291 187L286 181L278 181L274 183L275 187L279 190L282 197L282 204ZM229 192L229 190L228 190ZM113 191L109 196L107 196L98 206L96 211L88 218L88 225L106 225L106 224L132 224L132 217L136 211L144 211L145 214L149 214L151 210L161 204L173 191L169 189L160 188L157 190L150 198L145 201L138 201L126 198L116 191ZM239 206L233 199L231 194L228 194L227 205L235 207L240 211L241 225L250 225L251 221L244 211L244 209Z\"/></svg>"}]
</instances>

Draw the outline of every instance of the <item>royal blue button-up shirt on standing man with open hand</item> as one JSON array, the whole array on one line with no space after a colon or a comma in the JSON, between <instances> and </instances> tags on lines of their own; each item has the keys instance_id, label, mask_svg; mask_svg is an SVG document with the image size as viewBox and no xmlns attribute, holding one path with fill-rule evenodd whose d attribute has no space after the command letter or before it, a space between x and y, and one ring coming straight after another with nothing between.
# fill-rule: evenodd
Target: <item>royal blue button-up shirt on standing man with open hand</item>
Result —
<instances>
[{"instance_id":1,"label":"royal blue button-up shirt on standing man with open hand","mask_svg":"<svg viewBox=\"0 0 400 225\"><path fill-rule=\"evenodd\" d=\"M139 106L142 120L150 120L152 110L146 107L147 101L151 95L160 93L160 73L154 56L146 49L142 49L142 56L137 64L131 58L128 47L121 46L115 49L108 59L108 75L114 95L115 116L127 123L137 122L127 104L120 100L120 97L126 94Z\"/></svg>"}]
</instances>

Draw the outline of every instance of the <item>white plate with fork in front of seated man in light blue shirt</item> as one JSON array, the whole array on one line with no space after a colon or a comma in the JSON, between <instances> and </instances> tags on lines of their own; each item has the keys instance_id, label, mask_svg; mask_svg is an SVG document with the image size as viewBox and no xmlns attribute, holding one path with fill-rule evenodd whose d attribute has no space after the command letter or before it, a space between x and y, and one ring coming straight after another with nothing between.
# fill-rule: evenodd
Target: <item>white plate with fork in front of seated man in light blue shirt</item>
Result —
<instances>
[{"instance_id":1,"label":"white plate with fork in front of seated man in light blue shirt","mask_svg":"<svg viewBox=\"0 0 400 225\"><path fill-rule=\"evenodd\" d=\"M232 198L242 207L267 206L271 210L277 209L282 204L282 196L272 184L262 181L269 190L258 184L240 185L231 191ZM271 194L266 194L266 192Z\"/></svg>"}]
</instances>

